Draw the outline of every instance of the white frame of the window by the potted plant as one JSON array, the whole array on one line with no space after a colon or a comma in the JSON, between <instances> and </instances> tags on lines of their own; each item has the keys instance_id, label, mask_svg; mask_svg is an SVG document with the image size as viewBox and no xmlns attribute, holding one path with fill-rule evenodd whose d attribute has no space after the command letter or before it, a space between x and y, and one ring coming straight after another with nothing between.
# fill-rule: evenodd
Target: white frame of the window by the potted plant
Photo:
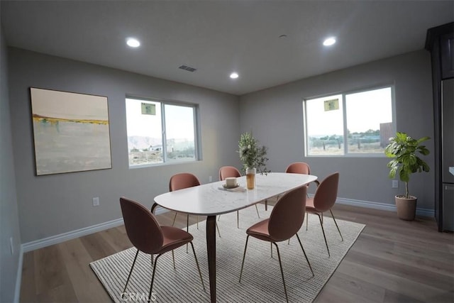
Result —
<instances>
[{"instance_id":1,"label":"white frame of the window by the potted plant","mask_svg":"<svg viewBox=\"0 0 454 303\"><path fill-rule=\"evenodd\" d=\"M303 98L303 142L304 142L304 157L307 158L385 158L384 153L348 153L348 128L347 128L347 104L346 96L348 94L358 94L361 92L369 92L378 89L391 89L391 116L392 116L392 133L396 133L397 130L397 119L396 119L396 96L395 96L395 84L377 84L369 87L362 87L360 89L351 89L343 92L333 92L330 94L323 94L315 97ZM342 117L343 117L343 154L342 155L309 155L309 136L307 135L307 119L308 114L306 109L306 101L312 99L321 99L331 96L341 95L342 98Z\"/></svg>"}]
</instances>

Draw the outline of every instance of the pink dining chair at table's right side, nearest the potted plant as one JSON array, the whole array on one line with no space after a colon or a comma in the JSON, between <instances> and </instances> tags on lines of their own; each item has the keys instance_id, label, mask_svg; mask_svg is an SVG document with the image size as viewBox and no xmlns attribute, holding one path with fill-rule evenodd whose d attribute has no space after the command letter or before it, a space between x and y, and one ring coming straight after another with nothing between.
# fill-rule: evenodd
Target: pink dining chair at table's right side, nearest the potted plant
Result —
<instances>
[{"instance_id":1,"label":"pink dining chair at table's right side, nearest the potted plant","mask_svg":"<svg viewBox=\"0 0 454 303\"><path fill-rule=\"evenodd\" d=\"M334 172L331 175L328 175L323 181L320 182L319 186L316 189L314 197L306 199L306 214L316 214L319 216L321 231L323 232L323 238L325 238L326 250L328 250L328 241L326 241L325 229L323 228L323 212L330 211L331 216L333 217L334 224L338 228L339 235L341 235L341 240L343 241L343 236L339 226L334 218L332 207L336 202L338 197L338 184L339 184L339 173ZM307 230L307 218L306 218L306 230Z\"/></svg>"}]
</instances>

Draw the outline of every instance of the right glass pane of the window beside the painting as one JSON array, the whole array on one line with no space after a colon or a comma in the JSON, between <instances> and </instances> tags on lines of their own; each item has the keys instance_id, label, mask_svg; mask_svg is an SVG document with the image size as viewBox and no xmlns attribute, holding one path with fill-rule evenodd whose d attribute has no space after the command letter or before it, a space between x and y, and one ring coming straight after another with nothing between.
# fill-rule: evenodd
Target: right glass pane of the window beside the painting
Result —
<instances>
[{"instance_id":1,"label":"right glass pane of the window beside the painting","mask_svg":"<svg viewBox=\"0 0 454 303\"><path fill-rule=\"evenodd\" d=\"M195 160L194 107L165 104L167 161Z\"/></svg>"}]
</instances>

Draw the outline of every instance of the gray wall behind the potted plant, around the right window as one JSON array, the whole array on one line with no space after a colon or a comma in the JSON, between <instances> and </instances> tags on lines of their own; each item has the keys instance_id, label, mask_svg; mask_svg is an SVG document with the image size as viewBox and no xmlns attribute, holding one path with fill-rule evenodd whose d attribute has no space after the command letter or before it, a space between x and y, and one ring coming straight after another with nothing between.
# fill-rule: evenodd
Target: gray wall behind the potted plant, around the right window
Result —
<instances>
[{"instance_id":1,"label":"gray wall behind the potted plant, around the right window","mask_svg":"<svg viewBox=\"0 0 454 303\"><path fill-rule=\"evenodd\" d=\"M268 146L272 171L282 172L290 162L302 160L320 179L340 172L341 198L394 205L394 195L404 193L404 184L391 188L388 158L304 157L302 99L380 84L395 84L397 131L414 138L433 137L431 61L425 50L244 95L240 97L241 131L252 130ZM432 171L412 175L409 191L418 197L419 208L433 211L433 140L427 145L431 155L426 160Z\"/></svg>"}]
</instances>

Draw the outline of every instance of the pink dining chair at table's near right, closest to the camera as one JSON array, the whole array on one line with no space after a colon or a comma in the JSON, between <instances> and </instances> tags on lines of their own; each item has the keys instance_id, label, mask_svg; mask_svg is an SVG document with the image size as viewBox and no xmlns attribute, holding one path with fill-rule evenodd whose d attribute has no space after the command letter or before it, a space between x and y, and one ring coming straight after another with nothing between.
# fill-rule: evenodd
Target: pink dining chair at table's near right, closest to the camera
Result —
<instances>
[{"instance_id":1,"label":"pink dining chair at table's near right, closest to the camera","mask_svg":"<svg viewBox=\"0 0 454 303\"><path fill-rule=\"evenodd\" d=\"M277 258L279 259L279 266L281 269L282 282L284 283L284 292L285 299L289 301L287 297L287 287L284 280L284 270L282 270L282 262L279 253L279 247L277 242L287 241L292 236L297 236L299 241L299 246L303 250L304 257L306 258L307 264L314 276L314 271L312 270L311 263L307 258L306 252L304 251L301 240L298 236L299 228L304 221L304 209L306 206L306 192L307 187L299 187L293 189L290 192L284 194L275 204L274 208L271 211L270 218L260 221L253 226L250 226L246 231L248 235L246 238L246 244L244 248L243 263L241 263L240 271L240 282L241 276L243 275L244 260L246 256L246 249L248 248L249 237L257 238L262 241L268 241L276 246Z\"/></svg>"}]
</instances>

